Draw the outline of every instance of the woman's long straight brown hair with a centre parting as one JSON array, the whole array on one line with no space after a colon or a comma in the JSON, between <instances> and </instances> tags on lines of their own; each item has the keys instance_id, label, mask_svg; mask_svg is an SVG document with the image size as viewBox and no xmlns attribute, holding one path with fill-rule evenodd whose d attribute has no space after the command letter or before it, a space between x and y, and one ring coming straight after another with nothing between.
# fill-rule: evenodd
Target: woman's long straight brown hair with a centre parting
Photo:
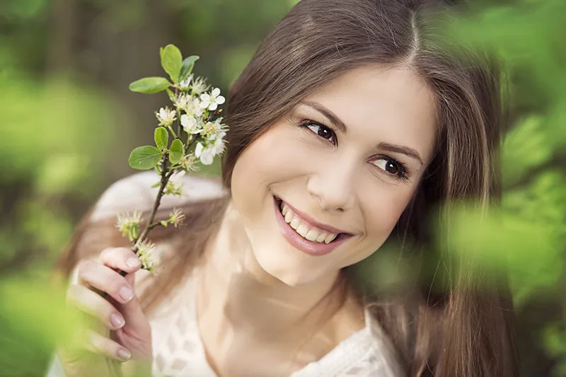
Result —
<instances>
[{"instance_id":1,"label":"woman's long straight brown hair with a centre parting","mask_svg":"<svg viewBox=\"0 0 566 377\"><path fill-rule=\"evenodd\" d=\"M502 126L499 71L478 51L448 51L432 21L449 15L446 4L427 0L303 0L262 42L229 93L228 149L223 182L233 166L270 125L309 93L364 64L409 66L434 93L439 124L437 153L417 194L391 238L429 250L429 217L440 204L476 199L497 201L497 147ZM147 308L159 303L195 265L214 235L228 197L187 204L183 231L161 229L152 240L177 240L175 255L163 261L168 274L144 295ZM163 212L165 213L165 212ZM88 236L91 235L91 236ZM96 236L92 236L96 235ZM108 245L126 245L114 221L85 220L77 228L60 267L69 274L81 257ZM88 247L87 247L88 245ZM96 246L93 246L96 245ZM96 248L96 250L95 250ZM432 284L417 282L397 297L375 299L360 291L393 343L408 376L517 376L512 303L506 282L480 284L473 258L443 256L448 289L432 300ZM483 272L484 280L487 272Z\"/></svg>"}]
</instances>

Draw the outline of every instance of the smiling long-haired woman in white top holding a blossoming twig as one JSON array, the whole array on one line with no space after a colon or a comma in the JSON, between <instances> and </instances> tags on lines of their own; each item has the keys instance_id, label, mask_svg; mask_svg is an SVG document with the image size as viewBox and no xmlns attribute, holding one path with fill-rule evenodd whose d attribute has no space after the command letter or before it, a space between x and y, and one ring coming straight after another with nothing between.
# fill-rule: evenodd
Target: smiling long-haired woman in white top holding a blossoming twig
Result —
<instances>
[{"instance_id":1,"label":"smiling long-haired woman in white top holding a blossoming twig","mask_svg":"<svg viewBox=\"0 0 566 377\"><path fill-rule=\"evenodd\" d=\"M89 333L94 364L60 347L67 376L106 359L155 376L516 376L505 284L480 284L473 260L444 255L436 278L423 268L379 294L353 268L386 240L430 261L439 205L497 199L498 73L441 48L431 20L444 11L299 2L231 87L224 191L187 178L187 225L154 234L166 273L134 294L139 260L114 226L149 206L148 173L110 187L79 226L62 259L69 301L115 332Z\"/></svg>"}]
</instances>

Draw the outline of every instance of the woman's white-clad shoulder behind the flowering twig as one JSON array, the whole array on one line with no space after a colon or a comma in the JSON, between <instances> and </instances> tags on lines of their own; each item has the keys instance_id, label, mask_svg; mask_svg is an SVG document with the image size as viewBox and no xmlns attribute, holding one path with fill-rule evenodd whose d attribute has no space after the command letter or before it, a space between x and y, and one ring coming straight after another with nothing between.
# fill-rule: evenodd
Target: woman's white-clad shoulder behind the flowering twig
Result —
<instances>
[{"instance_id":1,"label":"woman's white-clad shoulder behind the flowering twig","mask_svg":"<svg viewBox=\"0 0 566 377\"><path fill-rule=\"evenodd\" d=\"M158 187L151 187L159 181L154 170L129 175L117 180L100 196L91 214L91 221L107 219L124 211L149 211L154 204ZM183 195L165 195L161 198L162 207L177 207L189 202L214 199L226 194L218 178L205 178L198 175L184 175L180 178Z\"/></svg>"}]
</instances>

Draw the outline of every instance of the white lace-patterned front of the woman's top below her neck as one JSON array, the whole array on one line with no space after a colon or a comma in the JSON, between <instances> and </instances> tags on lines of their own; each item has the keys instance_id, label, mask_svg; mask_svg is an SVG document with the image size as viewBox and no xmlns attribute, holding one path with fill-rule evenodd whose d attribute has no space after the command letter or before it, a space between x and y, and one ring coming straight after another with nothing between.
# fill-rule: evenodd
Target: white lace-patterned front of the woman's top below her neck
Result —
<instances>
[{"instance_id":1,"label":"white lace-patterned front of the woman's top below her neck","mask_svg":"<svg viewBox=\"0 0 566 377\"><path fill-rule=\"evenodd\" d=\"M196 321L195 278L168 302L168 310L151 319L156 377L217 377L209 366ZM393 361L376 348L369 327L355 332L318 361L290 377L400 377Z\"/></svg>"}]
</instances>

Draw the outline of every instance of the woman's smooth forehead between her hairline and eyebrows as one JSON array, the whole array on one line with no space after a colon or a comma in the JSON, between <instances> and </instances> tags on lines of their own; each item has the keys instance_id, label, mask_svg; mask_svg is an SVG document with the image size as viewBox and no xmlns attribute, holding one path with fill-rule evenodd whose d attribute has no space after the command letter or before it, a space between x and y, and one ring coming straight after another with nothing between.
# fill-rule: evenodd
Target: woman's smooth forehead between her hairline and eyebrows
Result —
<instances>
[{"instance_id":1,"label":"woman's smooth forehead between her hairline and eyebrows","mask_svg":"<svg viewBox=\"0 0 566 377\"><path fill-rule=\"evenodd\" d=\"M306 100L321 103L374 144L388 142L432 153L436 113L432 91L411 69L364 66L338 77ZM370 132L368 134L368 132Z\"/></svg>"}]
</instances>

